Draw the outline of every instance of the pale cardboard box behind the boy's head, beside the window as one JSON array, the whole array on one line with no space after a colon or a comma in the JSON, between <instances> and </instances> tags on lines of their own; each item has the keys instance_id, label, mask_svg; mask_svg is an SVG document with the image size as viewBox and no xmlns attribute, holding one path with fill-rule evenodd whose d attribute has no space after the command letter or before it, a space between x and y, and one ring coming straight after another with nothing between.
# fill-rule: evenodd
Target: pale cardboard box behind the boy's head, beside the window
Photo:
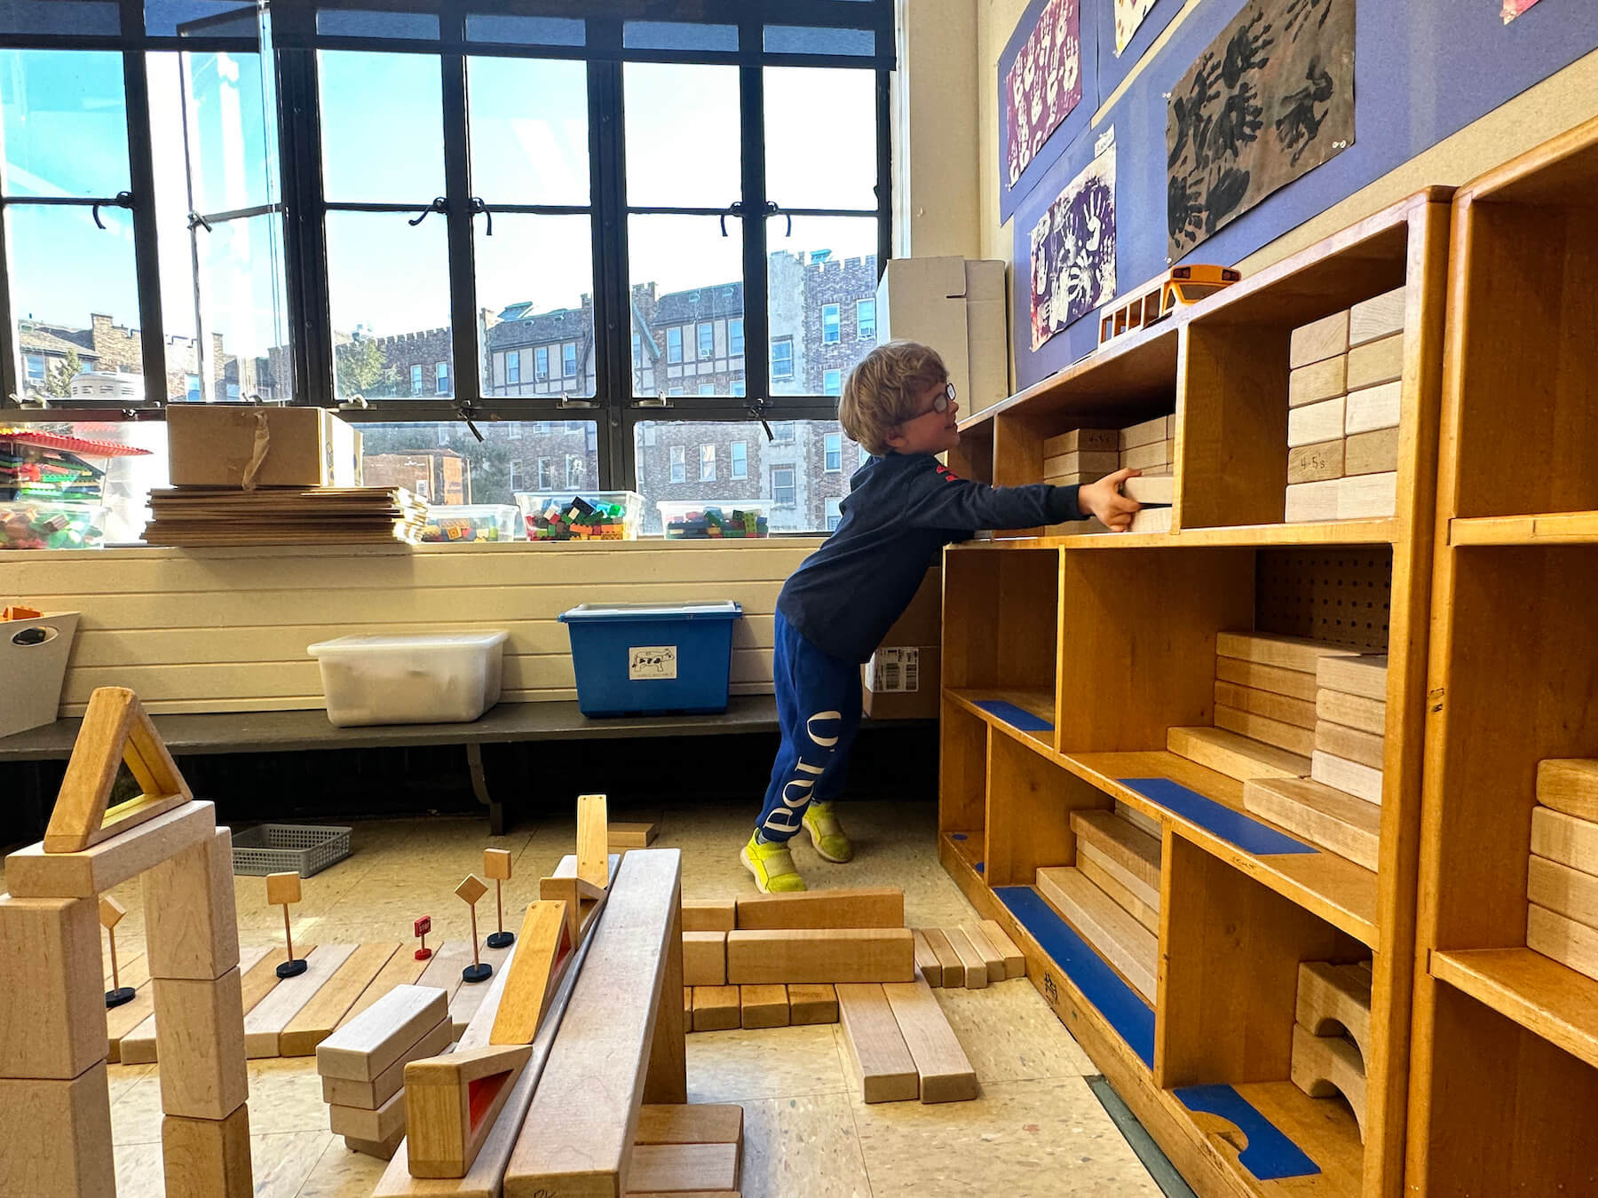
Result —
<instances>
[{"instance_id":1,"label":"pale cardboard box behind the boy's head, beside the window","mask_svg":"<svg viewBox=\"0 0 1598 1198\"><path fill-rule=\"evenodd\" d=\"M904 257L877 284L877 337L935 348L967 415L1010 393L1004 280L1002 260Z\"/></svg>"}]
</instances>

